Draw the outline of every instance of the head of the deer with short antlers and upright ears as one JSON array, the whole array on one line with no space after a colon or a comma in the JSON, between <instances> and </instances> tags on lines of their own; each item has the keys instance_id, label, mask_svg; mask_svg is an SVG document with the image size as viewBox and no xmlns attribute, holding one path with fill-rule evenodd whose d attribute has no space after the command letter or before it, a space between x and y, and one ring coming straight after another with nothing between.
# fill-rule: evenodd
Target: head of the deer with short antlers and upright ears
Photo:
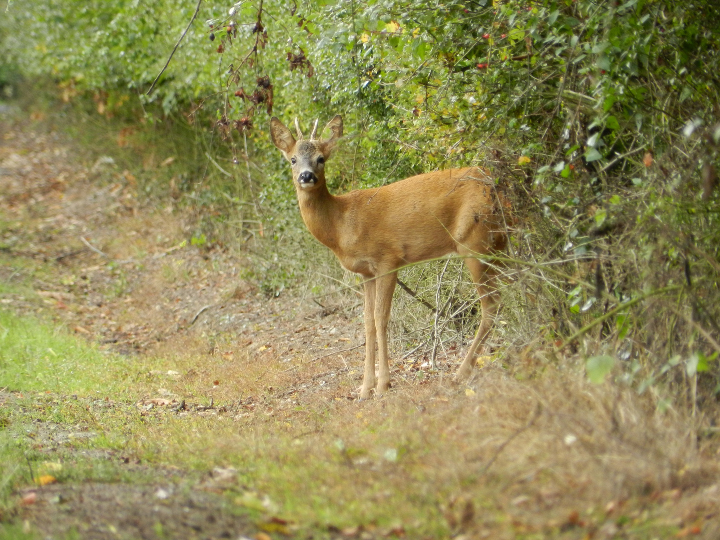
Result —
<instances>
[{"instance_id":1,"label":"head of the deer with short antlers and upright ears","mask_svg":"<svg viewBox=\"0 0 720 540\"><path fill-rule=\"evenodd\" d=\"M270 119L270 135L273 144L279 148L285 159L292 166L292 180L300 189L312 189L325 185L325 161L330 157L330 152L343 136L343 119L339 114L328 122L325 129L330 129L330 139L316 139L318 121L310 132L310 139L305 139L300 131L300 124L295 119L295 130L297 140L292 132L287 129L276 116ZM325 131L323 129L323 131ZM322 135L323 132L320 132Z\"/></svg>"}]
</instances>

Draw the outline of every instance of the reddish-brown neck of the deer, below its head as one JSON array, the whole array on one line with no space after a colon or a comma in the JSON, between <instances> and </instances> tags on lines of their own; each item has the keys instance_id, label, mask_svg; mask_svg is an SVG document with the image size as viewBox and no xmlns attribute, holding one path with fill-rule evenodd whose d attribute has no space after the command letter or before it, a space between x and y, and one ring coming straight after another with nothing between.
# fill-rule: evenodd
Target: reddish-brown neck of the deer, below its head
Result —
<instances>
[{"instance_id":1,"label":"reddish-brown neck of the deer, below its head","mask_svg":"<svg viewBox=\"0 0 720 540\"><path fill-rule=\"evenodd\" d=\"M307 230L322 244L335 251L338 247L338 229L342 220L338 198L328 191L325 178L320 179L320 185L315 189L307 191L296 187L296 191L300 215L302 221L305 221Z\"/></svg>"}]
</instances>

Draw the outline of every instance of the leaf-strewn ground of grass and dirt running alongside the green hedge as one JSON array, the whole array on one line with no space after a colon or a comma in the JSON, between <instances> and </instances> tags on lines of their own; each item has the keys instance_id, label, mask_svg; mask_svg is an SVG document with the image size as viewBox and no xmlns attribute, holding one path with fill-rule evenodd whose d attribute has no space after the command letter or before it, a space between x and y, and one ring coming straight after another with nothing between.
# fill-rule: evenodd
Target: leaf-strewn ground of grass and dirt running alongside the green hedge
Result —
<instances>
[{"instance_id":1,"label":"leaf-strewn ground of grass and dirt running alongside the green hedge","mask_svg":"<svg viewBox=\"0 0 720 540\"><path fill-rule=\"evenodd\" d=\"M461 386L409 357L359 402L357 306L266 298L26 116L0 128L0 539L720 536L691 418L540 347Z\"/></svg>"}]
</instances>

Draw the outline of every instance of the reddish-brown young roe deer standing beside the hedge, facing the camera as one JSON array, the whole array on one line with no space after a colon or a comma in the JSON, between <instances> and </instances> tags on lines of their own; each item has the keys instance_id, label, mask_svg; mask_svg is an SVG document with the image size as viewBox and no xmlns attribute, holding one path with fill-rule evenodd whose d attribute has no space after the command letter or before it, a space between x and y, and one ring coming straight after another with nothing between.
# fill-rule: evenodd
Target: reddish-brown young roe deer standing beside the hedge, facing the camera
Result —
<instances>
[{"instance_id":1,"label":"reddish-brown young roe deer standing beside the hedge, facing the camera","mask_svg":"<svg viewBox=\"0 0 720 540\"><path fill-rule=\"evenodd\" d=\"M365 370L360 398L369 398L372 388L375 395L390 388L387 323L397 269L450 253L465 256L482 303L480 327L457 372L459 378L469 376L498 307L497 272L475 256L503 250L507 238L502 216L505 202L490 176L475 167L438 170L334 196L325 185L325 161L343 135L343 119L338 114L330 120L325 129L332 135L327 140L315 138L317 120L309 140L302 136L297 118L295 129L297 140L275 116L270 120L272 142L292 165L302 221L315 238L333 250L343 267L366 279Z\"/></svg>"}]
</instances>

